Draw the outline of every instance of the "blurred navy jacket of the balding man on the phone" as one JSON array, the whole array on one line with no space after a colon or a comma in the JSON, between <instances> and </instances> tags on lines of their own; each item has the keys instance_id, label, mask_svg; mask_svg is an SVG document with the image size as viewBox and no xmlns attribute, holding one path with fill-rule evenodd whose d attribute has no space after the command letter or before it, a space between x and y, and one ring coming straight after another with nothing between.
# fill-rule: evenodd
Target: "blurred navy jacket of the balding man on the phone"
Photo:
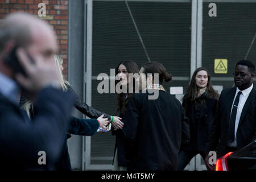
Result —
<instances>
[{"instance_id":1,"label":"blurred navy jacket of the balding man on the phone","mask_svg":"<svg viewBox=\"0 0 256 182\"><path fill-rule=\"evenodd\" d=\"M28 122L18 104L0 94L0 168L56 169L54 164L65 142L72 104L69 94L44 88L35 102L35 117ZM39 151L46 152L46 165L38 164Z\"/></svg>"}]
</instances>

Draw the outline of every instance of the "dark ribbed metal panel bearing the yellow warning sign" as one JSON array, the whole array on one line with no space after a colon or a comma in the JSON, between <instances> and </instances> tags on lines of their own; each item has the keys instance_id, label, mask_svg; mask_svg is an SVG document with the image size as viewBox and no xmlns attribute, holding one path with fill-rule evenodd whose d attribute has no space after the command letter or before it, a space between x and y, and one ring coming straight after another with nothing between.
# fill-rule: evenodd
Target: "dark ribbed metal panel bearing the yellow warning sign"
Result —
<instances>
[{"instance_id":1,"label":"dark ribbed metal panel bearing the yellow warning sign","mask_svg":"<svg viewBox=\"0 0 256 182\"><path fill-rule=\"evenodd\" d=\"M233 77L237 61L245 59L256 32L256 3L216 3L217 17L208 15L208 5L203 5L203 67L214 77ZM254 42L247 57L254 64L255 46ZM227 74L214 73L214 59L228 59ZM228 88L233 81L220 84Z\"/></svg>"}]
</instances>

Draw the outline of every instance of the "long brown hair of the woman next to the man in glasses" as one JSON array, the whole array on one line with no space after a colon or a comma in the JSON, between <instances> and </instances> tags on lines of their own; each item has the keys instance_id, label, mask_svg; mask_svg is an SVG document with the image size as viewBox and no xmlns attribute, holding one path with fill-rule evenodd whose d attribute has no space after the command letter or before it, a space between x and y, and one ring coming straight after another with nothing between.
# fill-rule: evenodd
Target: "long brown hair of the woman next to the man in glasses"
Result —
<instances>
[{"instance_id":1,"label":"long brown hair of the woman next to the man in glasses","mask_svg":"<svg viewBox=\"0 0 256 182\"><path fill-rule=\"evenodd\" d=\"M197 85L196 85L196 74L200 71L207 72L207 76L208 76L206 98L215 98L218 100L218 98L220 97L218 92L216 92L216 90L214 90L212 87L212 84L210 82L210 74L209 74L208 70L203 67L197 68L192 75L191 82L187 88L187 92L185 93L185 95L183 97L183 106L184 106L185 110L187 110L187 107L191 102L196 100L197 93L198 93L198 89L197 89Z\"/></svg>"}]
</instances>

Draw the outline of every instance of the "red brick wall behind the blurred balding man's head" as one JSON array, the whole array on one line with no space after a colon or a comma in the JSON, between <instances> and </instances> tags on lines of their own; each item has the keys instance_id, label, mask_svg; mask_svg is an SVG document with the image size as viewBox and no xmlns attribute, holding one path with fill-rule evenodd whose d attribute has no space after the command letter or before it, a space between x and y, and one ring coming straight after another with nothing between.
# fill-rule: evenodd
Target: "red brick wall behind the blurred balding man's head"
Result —
<instances>
[{"instance_id":1,"label":"red brick wall behind the blurred balding man's head","mask_svg":"<svg viewBox=\"0 0 256 182\"><path fill-rule=\"evenodd\" d=\"M13 12L26 12L38 15L38 4L46 4L46 17L45 19L55 29L58 43L59 54L64 60L63 75L68 77L68 0L0 0L0 20L6 14Z\"/></svg>"}]
</instances>

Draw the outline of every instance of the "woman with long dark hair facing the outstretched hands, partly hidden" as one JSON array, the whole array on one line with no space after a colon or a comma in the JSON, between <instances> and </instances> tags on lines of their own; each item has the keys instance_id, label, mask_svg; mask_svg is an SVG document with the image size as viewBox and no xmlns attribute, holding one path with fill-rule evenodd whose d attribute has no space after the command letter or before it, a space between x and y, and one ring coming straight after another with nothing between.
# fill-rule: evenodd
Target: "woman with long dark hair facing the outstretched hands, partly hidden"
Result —
<instances>
[{"instance_id":1,"label":"woman with long dark hair facing the outstretched hands, partly hidden","mask_svg":"<svg viewBox=\"0 0 256 182\"><path fill-rule=\"evenodd\" d=\"M135 78L129 78L129 73L134 74L138 72L138 65L131 60L124 60L118 64L117 68L115 68L115 75L118 77L118 80L115 81L115 87L117 88L117 85L119 85L120 89L125 91L119 93L117 96L117 113L120 118L124 117L127 104L131 96L133 96L133 94L135 93ZM130 86L133 86L133 90L131 93L129 93ZM125 151L123 147L124 138L122 129L112 129L112 134L115 135L113 170L126 170Z\"/></svg>"}]
</instances>

